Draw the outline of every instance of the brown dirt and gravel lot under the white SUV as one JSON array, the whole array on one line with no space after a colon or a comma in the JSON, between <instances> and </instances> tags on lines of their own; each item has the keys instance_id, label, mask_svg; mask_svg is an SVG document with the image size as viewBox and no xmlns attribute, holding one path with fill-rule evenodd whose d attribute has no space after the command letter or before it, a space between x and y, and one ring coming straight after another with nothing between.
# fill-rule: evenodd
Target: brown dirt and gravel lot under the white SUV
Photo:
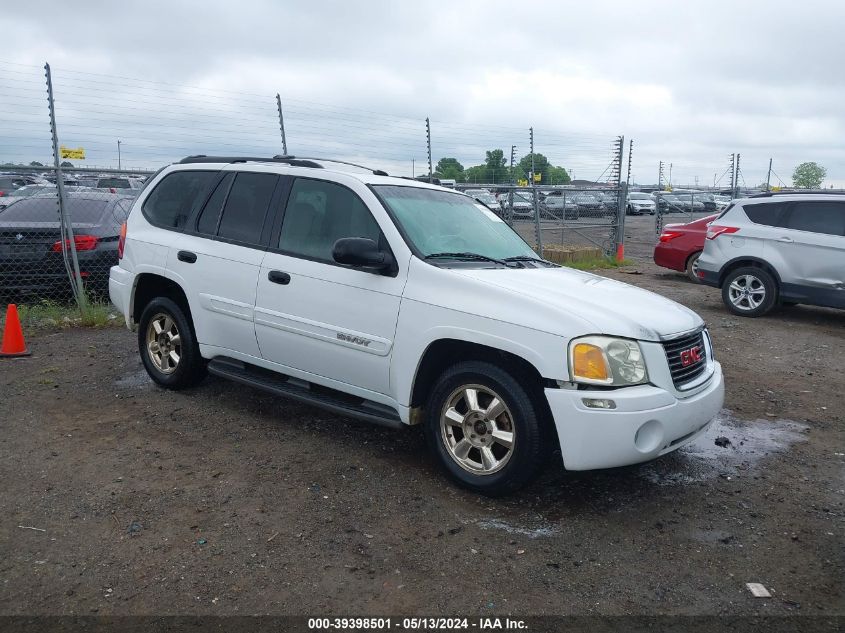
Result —
<instances>
[{"instance_id":1,"label":"brown dirt and gravel lot under the white SUV","mask_svg":"<svg viewBox=\"0 0 845 633\"><path fill-rule=\"evenodd\" d=\"M502 500L418 429L164 391L119 328L28 333L0 362L0 614L845 614L845 312L741 319L647 261L607 274L705 318L726 409L660 460Z\"/></svg>"}]
</instances>

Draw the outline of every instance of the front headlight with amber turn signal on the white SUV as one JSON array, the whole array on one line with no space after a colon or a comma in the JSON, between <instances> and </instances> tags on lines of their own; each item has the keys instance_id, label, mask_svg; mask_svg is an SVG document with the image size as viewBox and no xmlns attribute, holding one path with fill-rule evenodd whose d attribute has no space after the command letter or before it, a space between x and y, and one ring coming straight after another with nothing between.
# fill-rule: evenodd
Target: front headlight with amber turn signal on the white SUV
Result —
<instances>
[{"instance_id":1,"label":"front headlight with amber turn signal on the white SUV","mask_svg":"<svg viewBox=\"0 0 845 633\"><path fill-rule=\"evenodd\" d=\"M569 343L573 382L622 387L648 382L639 343L609 336L585 336Z\"/></svg>"}]
</instances>

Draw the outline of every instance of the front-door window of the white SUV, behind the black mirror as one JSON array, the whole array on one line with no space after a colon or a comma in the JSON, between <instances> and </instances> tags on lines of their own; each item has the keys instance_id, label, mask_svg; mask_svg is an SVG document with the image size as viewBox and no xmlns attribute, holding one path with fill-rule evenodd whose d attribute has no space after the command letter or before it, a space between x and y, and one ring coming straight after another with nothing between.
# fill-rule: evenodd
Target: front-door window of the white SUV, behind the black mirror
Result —
<instances>
[{"instance_id":1,"label":"front-door window of the white SUV, behind the black mirror","mask_svg":"<svg viewBox=\"0 0 845 633\"><path fill-rule=\"evenodd\" d=\"M381 231L367 206L351 190L297 178L285 209L279 248L330 262L334 261L334 243L343 237L368 237L378 243Z\"/></svg>"}]
</instances>

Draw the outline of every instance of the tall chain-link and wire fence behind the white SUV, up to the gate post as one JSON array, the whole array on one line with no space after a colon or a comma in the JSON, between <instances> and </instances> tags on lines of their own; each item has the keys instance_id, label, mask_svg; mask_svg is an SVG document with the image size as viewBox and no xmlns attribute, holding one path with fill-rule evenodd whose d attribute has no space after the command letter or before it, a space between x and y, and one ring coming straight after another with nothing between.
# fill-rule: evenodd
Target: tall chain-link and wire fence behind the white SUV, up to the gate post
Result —
<instances>
[{"instance_id":1,"label":"tall chain-link and wire fence behind the white SUV, up to the gate post","mask_svg":"<svg viewBox=\"0 0 845 633\"><path fill-rule=\"evenodd\" d=\"M0 301L107 301L121 226L144 181L196 154L316 156L440 182L483 198L550 259L617 255L621 137L537 138L528 126L0 62Z\"/></svg>"}]
</instances>

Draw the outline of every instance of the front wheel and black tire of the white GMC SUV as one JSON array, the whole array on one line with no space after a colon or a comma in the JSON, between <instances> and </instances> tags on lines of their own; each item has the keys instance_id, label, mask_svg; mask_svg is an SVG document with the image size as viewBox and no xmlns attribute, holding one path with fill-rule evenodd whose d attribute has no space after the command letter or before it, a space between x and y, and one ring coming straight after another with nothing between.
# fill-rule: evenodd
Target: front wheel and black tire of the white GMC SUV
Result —
<instances>
[{"instance_id":1,"label":"front wheel and black tire of the white GMC SUV","mask_svg":"<svg viewBox=\"0 0 845 633\"><path fill-rule=\"evenodd\" d=\"M457 363L438 378L424 430L430 450L458 485L495 497L537 475L553 437L531 391L506 370L483 361ZM501 406L491 416L494 399Z\"/></svg>"}]
</instances>

